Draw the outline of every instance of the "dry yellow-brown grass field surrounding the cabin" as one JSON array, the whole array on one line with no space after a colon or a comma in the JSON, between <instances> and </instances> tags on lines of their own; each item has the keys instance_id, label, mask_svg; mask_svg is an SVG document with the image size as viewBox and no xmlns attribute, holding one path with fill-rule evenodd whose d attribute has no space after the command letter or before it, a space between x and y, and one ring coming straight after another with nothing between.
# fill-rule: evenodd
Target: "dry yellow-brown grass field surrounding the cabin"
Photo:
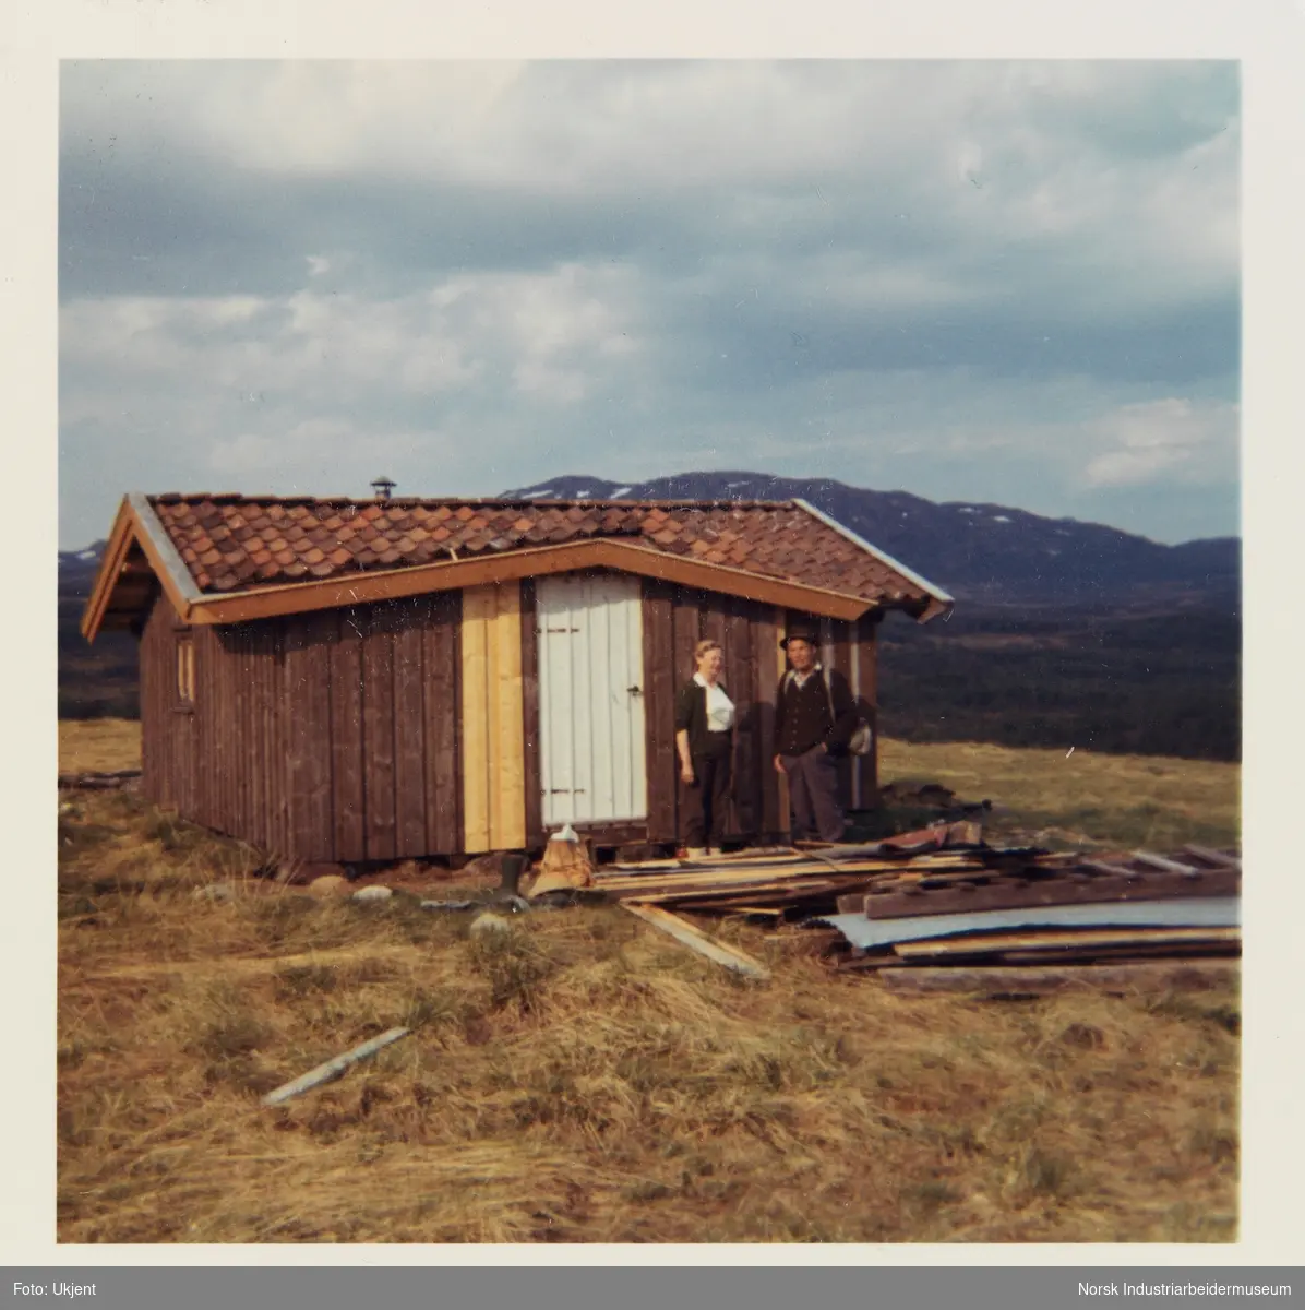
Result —
<instances>
[{"instance_id":1,"label":"dry yellow-brown grass field surrounding the cabin","mask_svg":"<svg viewBox=\"0 0 1305 1310\"><path fill-rule=\"evenodd\" d=\"M135 724L60 730L64 769L135 748ZM1067 783L1034 755L890 744L885 772L1065 831L1072 790L1102 840L1141 814L1236 829L1232 766L1080 761ZM831 976L797 930L726 924L772 967L749 984L617 908L473 938L414 897L253 879L249 852L132 793L69 803L62 1242L1237 1235L1236 990L901 998ZM229 900L203 895L223 880ZM339 1082L258 1104L401 1023Z\"/></svg>"}]
</instances>

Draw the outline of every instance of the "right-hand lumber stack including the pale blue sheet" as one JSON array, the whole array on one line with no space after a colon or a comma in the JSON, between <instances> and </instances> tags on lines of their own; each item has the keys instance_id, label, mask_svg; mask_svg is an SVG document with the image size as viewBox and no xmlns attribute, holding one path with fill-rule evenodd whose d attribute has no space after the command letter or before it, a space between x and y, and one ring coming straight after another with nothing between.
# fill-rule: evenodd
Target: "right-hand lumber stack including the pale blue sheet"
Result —
<instances>
[{"instance_id":1,"label":"right-hand lumber stack including the pale blue sheet","mask_svg":"<svg viewBox=\"0 0 1305 1310\"><path fill-rule=\"evenodd\" d=\"M842 938L832 943L839 969L873 969L885 979L928 971L939 986L950 985L936 976L948 969L978 976L1162 960L1182 962L1191 972L1195 962L1241 954L1241 861L1230 852L1185 846L1169 855L1034 859L986 876L935 876L915 886L881 882L839 897L838 913L822 922ZM1024 981L1031 984L1033 976ZM923 989L920 979L890 985Z\"/></svg>"}]
</instances>

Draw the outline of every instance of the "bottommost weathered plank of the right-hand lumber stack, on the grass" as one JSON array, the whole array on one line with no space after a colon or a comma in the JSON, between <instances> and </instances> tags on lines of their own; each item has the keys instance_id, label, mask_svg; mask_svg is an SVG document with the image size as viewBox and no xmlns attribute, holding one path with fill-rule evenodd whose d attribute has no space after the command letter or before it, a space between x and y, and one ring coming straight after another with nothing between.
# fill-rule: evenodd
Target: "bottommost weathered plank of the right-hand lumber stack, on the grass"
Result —
<instances>
[{"instance_id":1,"label":"bottommost weathered plank of the right-hand lumber stack, on the grass","mask_svg":"<svg viewBox=\"0 0 1305 1310\"><path fill-rule=\"evenodd\" d=\"M1190 960L1058 968L904 968L884 969L877 976L887 990L899 996L935 992L1038 996L1064 990L1156 994L1221 986L1237 980L1240 967L1223 960Z\"/></svg>"}]
</instances>

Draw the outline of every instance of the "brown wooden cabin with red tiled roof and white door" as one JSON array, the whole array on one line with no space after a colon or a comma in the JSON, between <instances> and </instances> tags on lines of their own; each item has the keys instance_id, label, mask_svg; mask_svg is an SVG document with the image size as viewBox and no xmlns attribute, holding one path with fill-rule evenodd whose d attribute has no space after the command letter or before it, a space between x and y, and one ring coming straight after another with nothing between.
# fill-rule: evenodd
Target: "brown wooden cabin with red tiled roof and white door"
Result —
<instances>
[{"instance_id":1,"label":"brown wooden cabin with red tiled roof and white door","mask_svg":"<svg viewBox=\"0 0 1305 1310\"><path fill-rule=\"evenodd\" d=\"M952 599L802 500L127 495L88 639L140 639L143 786L305 863L679 832L673 701L703 637L738 705L729 838L783 838L791 618L874 722L876 627ZM874 755L846 800L874 804Z\"/></svg>"}]
</instances>

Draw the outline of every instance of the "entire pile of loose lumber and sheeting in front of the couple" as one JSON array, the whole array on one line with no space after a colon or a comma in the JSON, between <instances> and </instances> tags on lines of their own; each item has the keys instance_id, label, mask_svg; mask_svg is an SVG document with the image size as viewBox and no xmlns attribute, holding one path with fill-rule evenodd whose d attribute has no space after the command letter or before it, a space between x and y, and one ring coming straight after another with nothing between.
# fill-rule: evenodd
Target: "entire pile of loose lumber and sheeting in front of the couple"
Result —
<instances>
[{"instance_id":1,"label":"entire pile of loose lumber and sheeting in front of the couple","mask_svg":"<svg viewBox=\"0 0 1305 1310\"><path fill-rule=\"evenodd\" d=\"M1139 968L1153 985L1206 985L1241 954L1241 859L1203 846L1089 858L987 846L957 823L868 846L607 865L592 886L685 945L702 934L675 912L798 920L836 969L895 990L1124 986Z\"/></svg>"}]
</instances>

